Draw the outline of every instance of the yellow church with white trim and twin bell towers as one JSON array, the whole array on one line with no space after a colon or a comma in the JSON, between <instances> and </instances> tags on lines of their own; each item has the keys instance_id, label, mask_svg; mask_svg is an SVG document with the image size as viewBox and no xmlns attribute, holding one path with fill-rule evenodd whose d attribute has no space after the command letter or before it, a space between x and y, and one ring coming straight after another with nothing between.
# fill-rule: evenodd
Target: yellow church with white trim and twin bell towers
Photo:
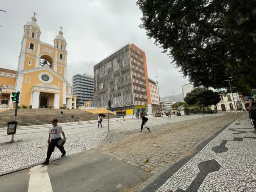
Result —
<instances>
[{"instance_id":1,"label":"yellow church with white trim and twin bell towers","mask_svg":"<svg viewBox=\"0 0 256 192\"><path fill-rule=\"evenodd\" d=\"M12 105L11 93L19 91L19 106L76 109L76 96L66 80L68 53L62 27L53 46L44 43L33 14L32 21L24 25L17 71L0 68L0 85L7 88L2 89L0 102Z\"/></svg>"}]
</instances>

